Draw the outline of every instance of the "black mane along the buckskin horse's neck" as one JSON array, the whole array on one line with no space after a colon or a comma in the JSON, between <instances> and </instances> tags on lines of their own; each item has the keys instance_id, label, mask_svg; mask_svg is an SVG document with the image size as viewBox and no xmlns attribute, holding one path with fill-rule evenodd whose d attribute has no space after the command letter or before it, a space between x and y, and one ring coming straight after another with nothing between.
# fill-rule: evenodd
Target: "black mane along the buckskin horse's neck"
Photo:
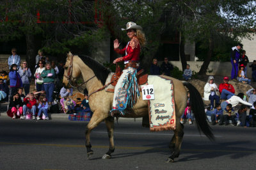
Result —
<instances>
[{"instance_id":1,"label":"black mane along the buckskin horse's neck","mask_svg":"<svg viewBox=\"0 0 256 170\"><path fill-rule=\"evenodd\" d=\"M83 62L93 70L97 79L99 79L102 85L104 85L111 71L105 66L103 66L101 63L96 61L95 59L91 58L90 56L84 56L84 55L77 55L77 56L79 56L79 58L81 58Z\"/></svg>"}]
</instances>

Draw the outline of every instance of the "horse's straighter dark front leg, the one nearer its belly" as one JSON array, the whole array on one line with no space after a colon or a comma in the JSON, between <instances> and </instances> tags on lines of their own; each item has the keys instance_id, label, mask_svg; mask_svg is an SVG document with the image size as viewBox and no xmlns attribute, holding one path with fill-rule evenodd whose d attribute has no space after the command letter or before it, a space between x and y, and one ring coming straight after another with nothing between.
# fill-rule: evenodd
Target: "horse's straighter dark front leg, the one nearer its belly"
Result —
<instances>
[{"instance_id":1,"label":"horse's straighter dark front leg, the one nearer its belly","mask_svg":"<svg viewBox=\"0 0 256 170\"><path fill-rule=\"evenodd\" d=\"M109 137L109 150L108 152L103 155L102 158L111 158L111 153L115 151L115 145L114 145L114 118L108 117L105 119L106 126L108 128L108 137Z\"/></svg>"}]
</instances>

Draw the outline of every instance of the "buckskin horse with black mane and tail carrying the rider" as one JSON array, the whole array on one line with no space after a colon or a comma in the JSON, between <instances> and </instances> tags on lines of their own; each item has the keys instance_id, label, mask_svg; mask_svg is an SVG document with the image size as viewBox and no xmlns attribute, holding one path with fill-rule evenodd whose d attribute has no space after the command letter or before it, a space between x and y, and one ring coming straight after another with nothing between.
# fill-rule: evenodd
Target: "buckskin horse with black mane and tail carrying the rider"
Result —
<instances>
[{"instance_id":1,"label":"buckskin horse with black mane and tail carrying the rider","mask_svg":"<svg viewBox=\"0 0 256 170\"><path fill-rule=\"evenodd\" d=\"M89 56L73 56L71 52L67 54L63 77L63 84L65 88L73 86L72 84L74 84L77 78L82 75L84 86L88 89L88 94L90 95L97 91L97 93L93 93L89 97L89 105L90 109L93 111L93 116L88 123L85 132L87 158L90 158L93 155L93 150L91 149L92 145L90 143L90 133L93 128L97 127L97 125L102 121L105 121L106 123L109 137L109 150L102 158L111 158L111 153L115 150L113 137L114 119L109 116L109 111L112 107L113 93L106 92L105 90L99 90L103 89L102 87L104 86L109 73L111 72L108 68ZM173 81L176 128L173 130L174 134L169 144L172 155L166 160L166 162L173 162L174 158L179 157L180 146L184 135L184 125L180 123L180 116L182 116L187 105L188 97L186 88L189 89L191 109L194 113L196 126L199 132L203 132L211 141L214 141L214 135L206 121L204 103L197 89L189 82L182 82L172 77L168 78ZM147 100L142 100L142 97L140 97L134 107L130 109L129 114L125 114L124 117L140 118L147 115L148 102Z\"/></svg>"}]
</instances>

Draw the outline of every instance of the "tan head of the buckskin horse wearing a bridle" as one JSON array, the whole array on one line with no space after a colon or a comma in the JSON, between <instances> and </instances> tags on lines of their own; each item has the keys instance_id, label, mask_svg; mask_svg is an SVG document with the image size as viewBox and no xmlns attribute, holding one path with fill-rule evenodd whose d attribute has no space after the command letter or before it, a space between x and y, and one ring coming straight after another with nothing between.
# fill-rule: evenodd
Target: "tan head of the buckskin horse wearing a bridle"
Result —
<instances>
[{"instance_id":1,"label":"tan head of the buckskin horse wearing a bridle","mask_svg":"<svg viewBox=\"0 0 256 170\"><path fill-rule=\"evenodd\" d=\"M79 77L80 73L81 71L76 62L76 56L68 52L63 76L64 87L71 88L71 84L76 84L77 77Z\"/></svg>"}]
</instances>

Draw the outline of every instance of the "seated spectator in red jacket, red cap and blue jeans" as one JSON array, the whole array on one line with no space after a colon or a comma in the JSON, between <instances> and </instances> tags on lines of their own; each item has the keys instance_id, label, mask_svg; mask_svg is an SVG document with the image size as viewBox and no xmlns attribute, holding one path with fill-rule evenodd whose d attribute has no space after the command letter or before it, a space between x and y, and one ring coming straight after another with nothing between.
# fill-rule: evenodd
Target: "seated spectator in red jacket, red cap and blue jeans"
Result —
<instances>
[{"instance_id":1,"label":"seated spectator in red jacket, red cap and blue jeans","mask_svg":"<svg viewBox=\"0 0 256 170\"><path fill-rule=\"evenodd\" d=\"M223 82L224 83L221 83L219 86L220 98L229 99L230 97L235 95L235 89L232 84L228 83L228 77L224 77Z\"/></svg>"}]
</instances>

